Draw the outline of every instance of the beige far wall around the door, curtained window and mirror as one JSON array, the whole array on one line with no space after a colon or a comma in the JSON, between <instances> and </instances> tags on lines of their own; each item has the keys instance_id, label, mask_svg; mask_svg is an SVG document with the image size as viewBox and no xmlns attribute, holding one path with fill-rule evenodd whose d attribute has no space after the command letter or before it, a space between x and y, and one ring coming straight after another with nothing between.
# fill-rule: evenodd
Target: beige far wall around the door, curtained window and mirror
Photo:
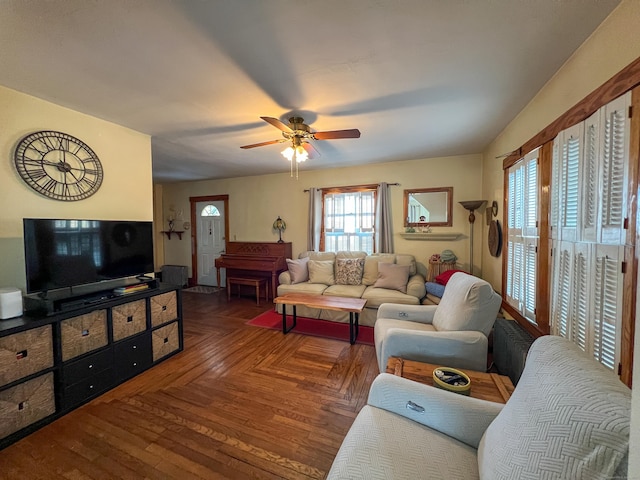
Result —
<instances>
[{"instance_id":1,"label":"beige far wall around the door, curtained window and mirror","mask_svg":"<svg viewBox=\"0 0 640 480\"><path fill-rule=\"evenodd\" d=\"M277 153L274 153L277 155ZM168 209L174 205L183 210L184 220L189 220L189 197L201 195L229 195L230 240L263 241L278 240L273 232L273 221L280 215L287 223L283 239L293 243L293 254L306 250L308 193L310 187L333 187L369 183L400 183L390 187L393 209L395 251L411 253L416 260L426 264L433 253L453 250L464 268L469 262L468 212L458 205L461 200L476 200L480 196L482 161L480 155L447 158L431 158L393 163L349 167L331 170L303 170L300 179L291 178L288 164L283 163L282 174L231 178L202 182L186 182L162 185L164 225ZM322 159L318 160L321 162ZM434 232L459 232L463 236L453 242L405 240L397 233L404 232L403 191L412 188L453 186L453 226L434 228ZM484 217L478 217L476 224ZM476 230L476 232L479 230ZM481 242L476 235L474 263L480 265ZM191 242L183 236L177 240L164 240L165 262L188 265L191 272Z\"/></svg>"}]
</instances>

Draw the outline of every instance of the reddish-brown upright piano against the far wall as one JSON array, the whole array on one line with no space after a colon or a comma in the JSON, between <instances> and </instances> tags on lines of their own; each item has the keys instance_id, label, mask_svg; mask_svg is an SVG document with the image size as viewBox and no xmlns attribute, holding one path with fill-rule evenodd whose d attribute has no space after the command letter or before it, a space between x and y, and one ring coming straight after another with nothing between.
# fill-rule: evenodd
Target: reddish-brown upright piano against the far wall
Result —
<instances>
[{"instance_id":1,"label":"reddish-brown upright piano against the far wall","mask_svg":"<svg viewBox=\"0 0 640 480\"><path fill-rule=\"evenodd\" d=\"M220 269L228 277L264 277L271 282L271 298L276 298L278 275L287 269L291 258L291 242L228 242L227 251L216 258L216 277L220 285Z\"/></svg>"}]
</instances>

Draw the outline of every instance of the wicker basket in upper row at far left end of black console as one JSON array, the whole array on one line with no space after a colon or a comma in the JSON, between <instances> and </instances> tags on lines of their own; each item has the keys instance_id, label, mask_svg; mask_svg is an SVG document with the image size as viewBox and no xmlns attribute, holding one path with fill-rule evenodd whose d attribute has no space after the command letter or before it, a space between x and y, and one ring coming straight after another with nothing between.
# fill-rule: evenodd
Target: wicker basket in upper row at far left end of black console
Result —
<instances>
[{"instance_id":1,"label":"wicker basket in upper row at far left end of black console","mask_svg":"<svg viewBox=\"0 0 640 480\"><path fill-rule=\"evenodd\" d=\"M0 386L52 366L51 325L0 338Z\"/></svg>"}]
</instances>

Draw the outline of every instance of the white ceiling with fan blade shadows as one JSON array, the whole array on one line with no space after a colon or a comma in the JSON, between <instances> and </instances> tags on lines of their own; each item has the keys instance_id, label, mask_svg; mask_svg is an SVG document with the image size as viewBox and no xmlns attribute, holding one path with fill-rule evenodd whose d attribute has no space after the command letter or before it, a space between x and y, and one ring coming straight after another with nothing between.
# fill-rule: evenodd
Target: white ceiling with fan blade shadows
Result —
<instances>
[{"instance_id":1,"label":"white ceiling with fan blade shadows","mask_svg":"<svg viewBox=\"0 0 640 480\"><path fill-rule=\"evenodd\" d=\"M619 0L0 0L0 84L152 135L157 182L480 153ZM73 132L67 132L73 135Z\"/></svg>"}]
</instances>

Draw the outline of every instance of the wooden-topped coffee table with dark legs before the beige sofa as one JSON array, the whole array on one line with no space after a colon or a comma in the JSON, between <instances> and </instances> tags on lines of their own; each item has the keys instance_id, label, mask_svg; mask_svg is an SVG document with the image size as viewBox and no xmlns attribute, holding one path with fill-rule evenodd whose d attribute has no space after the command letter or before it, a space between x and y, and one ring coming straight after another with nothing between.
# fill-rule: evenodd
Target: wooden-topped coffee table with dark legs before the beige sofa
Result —
<instances>
[{"instance_id":1,"label":"wooden-topped coffee table with dark legs before the beige sofa","mask_svg":"<svg viewBox=\"0 0 640 480\"><path fill-rule=\"evenodd\" d=\"M287 293L276 297L274 303L282 305L282 333L287 334L296 326L296 306L349 312L349 343L353 345L358 338L358 319L367 301L362 298L333 297L331 295L313 295L310 293ZM293 324L287 328L287 305L293 306Z\"/></svg>"}]
</instances>

